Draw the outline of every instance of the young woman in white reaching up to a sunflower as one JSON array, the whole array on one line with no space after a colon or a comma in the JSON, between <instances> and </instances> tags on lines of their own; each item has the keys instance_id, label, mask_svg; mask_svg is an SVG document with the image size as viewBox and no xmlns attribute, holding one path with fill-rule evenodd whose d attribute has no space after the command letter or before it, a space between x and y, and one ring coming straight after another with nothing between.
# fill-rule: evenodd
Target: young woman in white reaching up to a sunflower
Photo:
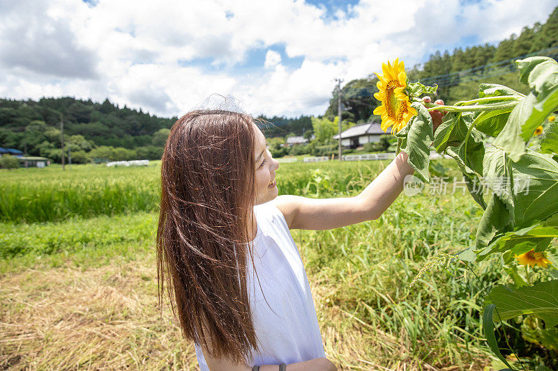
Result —
<instances>
[{"instance_id":1,"label":"young woman in white reaching up to a sunflower","mask_svg":"<svg viewBox=\"0 0 558 371\"><path fill-rule=\"evenodd\" d=\"M167 285L202 371L336 370L326 358L289 230L377 219L414 172L400 152L358 196L312 199L278 196L278 167L264 135L243 113L192 111L167 139L159 303Z\"/></svg>"}]
</instances>

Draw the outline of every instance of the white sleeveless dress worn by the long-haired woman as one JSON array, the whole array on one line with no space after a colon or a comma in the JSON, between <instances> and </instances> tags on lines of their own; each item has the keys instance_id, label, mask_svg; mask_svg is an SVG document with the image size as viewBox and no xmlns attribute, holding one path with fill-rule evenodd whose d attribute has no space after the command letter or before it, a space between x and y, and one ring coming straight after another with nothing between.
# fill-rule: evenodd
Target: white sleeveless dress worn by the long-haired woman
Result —
<instances>
[{"instance_id":1,"label":"white sleeveless dress worn by the long-haired woman","mask_svg":"<svg viewBox=\"0 0 558 371\"><path fill-rule=\"evenodd\" d=\"M249 259L247 285L261 354L255 352L249 365L279 365L325 357L308 277L285 217L271 203L255 206L254 212L254 265L259 284ZM200 370L209 371L198 344L195 352Z\"/></svg>"}]
</instances>

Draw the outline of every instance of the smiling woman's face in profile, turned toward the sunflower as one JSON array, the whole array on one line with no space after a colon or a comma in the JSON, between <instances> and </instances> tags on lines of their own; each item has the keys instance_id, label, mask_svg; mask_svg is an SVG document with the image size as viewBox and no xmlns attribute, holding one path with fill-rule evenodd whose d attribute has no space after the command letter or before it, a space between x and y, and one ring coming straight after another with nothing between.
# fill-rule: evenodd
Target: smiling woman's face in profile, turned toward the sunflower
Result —
<instances>
[{"instance_id":1,"label":"smiling woman's face in profile, turned toward the sunflower","mask_svg":"<svg viewBox=\"0 0 558 371\"><path fill-rule=\"evenodd\" d=\"M279 194L275 181L275 171L279 162L271 157L271 152L266 149L266 139L262 131L254 123L255 131L255 205L273 200Z\"/></svg>"}]
</instances>

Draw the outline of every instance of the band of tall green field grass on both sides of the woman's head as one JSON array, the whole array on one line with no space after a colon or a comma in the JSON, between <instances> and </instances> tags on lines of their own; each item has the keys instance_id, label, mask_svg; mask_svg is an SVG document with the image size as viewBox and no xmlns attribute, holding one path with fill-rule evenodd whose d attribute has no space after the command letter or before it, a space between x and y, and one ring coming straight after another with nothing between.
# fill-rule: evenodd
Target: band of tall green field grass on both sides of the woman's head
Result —
<instances>
[{"instance_id":1,"label":"band of tall green field grass on both sides of the woman's head","mask_svg":"<svg viewBox=\"0 0 558 371\"><path fill-rule=\"evenodd\" d=\"M338 196L363 189L389 161L281 164L280 194ZM328 177L315 182L318 171ZM319 191L322 194L319 194ZM0 221L36 223L158 210L160 164L75 166L0 172Z\"/></svg>"}]
</instances>

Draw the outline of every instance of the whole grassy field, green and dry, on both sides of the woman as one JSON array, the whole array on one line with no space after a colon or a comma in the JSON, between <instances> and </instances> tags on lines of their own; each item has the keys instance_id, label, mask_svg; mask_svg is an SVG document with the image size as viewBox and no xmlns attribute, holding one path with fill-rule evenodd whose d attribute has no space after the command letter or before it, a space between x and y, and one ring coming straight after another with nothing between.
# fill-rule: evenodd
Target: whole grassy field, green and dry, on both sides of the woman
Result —
<instances>
[{"instance_id":1,"label":"whole grassy field, green and dry, on both sides of the woman","mask_svg":"<svg viewBox=\"0 0 558 371\"><path fill-rule=\"evenodd\" d=\"M433 171L457 176L453 160ZM358 194L389 161L281 164L280 194ZM157 310L160 165L0 172L0 368L196 370L172 314ZM401 194L379 219L292 230L326 355L339 370L481 370L483 286L499 265L435 267L474 241L482 215L461 191Z\"/></svg>"}]
</instances>

